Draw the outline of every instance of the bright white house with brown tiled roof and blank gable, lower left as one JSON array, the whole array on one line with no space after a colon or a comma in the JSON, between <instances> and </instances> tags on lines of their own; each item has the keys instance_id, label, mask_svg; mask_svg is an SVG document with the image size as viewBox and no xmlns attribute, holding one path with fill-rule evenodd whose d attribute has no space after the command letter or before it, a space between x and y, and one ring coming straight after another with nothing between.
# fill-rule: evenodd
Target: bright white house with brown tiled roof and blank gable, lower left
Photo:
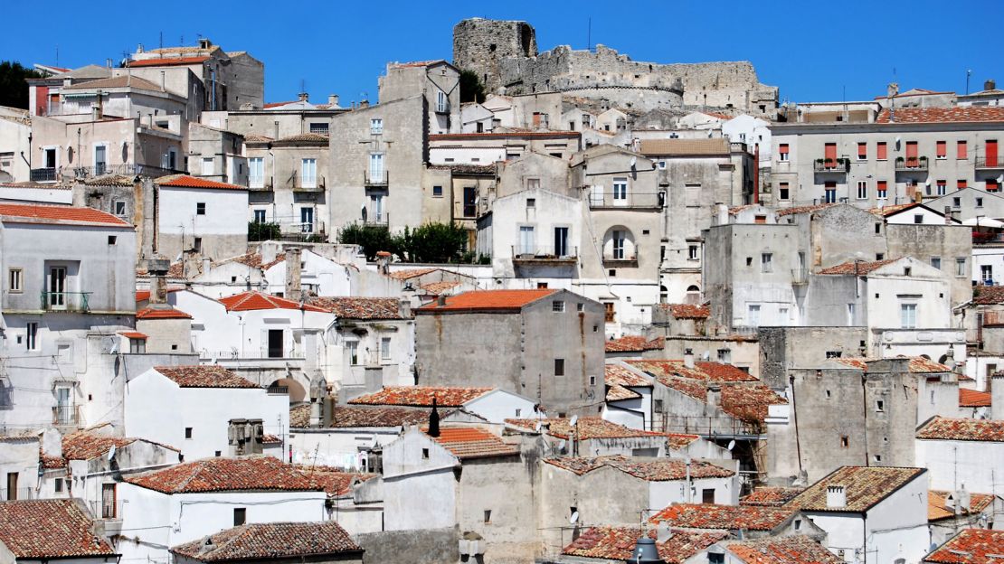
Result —
<instances>
[{"instance_id":1,"label":"bright white house with brown tiled roof and blank gable, lower left","mask_svg":"<svg viewBox=\"0 0 1004 564\"><path fill-rule=\"evenodd\" d=\"M126 433L189 460L268 453L281 458L289 398L221 366L157 366L131 379Z\"/></svg>"}]
</instances>

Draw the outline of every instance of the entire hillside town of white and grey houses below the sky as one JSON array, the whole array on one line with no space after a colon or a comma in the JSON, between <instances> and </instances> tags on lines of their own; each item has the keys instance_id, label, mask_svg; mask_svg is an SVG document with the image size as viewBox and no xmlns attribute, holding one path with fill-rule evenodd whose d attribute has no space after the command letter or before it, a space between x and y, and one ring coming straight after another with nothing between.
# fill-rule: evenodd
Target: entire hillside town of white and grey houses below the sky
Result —
<instances>
[{"instance_id":1,"label":"entire hillside town of white and grey houses below the sky","mask_svg":"<svg viewBox=\"0 0 1004 564\"><path fill-rule=\"evenodd\" d=\"M991 77L473 18L282 101L242 47L0 106L0 564L1004 558Z\"/></svg>"}]
</instances>

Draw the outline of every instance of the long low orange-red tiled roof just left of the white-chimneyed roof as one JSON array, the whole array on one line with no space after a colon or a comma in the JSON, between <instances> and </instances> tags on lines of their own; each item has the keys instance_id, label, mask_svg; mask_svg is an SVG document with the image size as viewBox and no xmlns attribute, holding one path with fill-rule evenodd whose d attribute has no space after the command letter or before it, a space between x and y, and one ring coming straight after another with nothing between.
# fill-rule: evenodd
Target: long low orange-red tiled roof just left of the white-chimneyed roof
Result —
<instances>
[{"instance_id":1,"label":"long low orange-red tiled roof just left of the white-chimneyed roof","mask_svg":"<svg viewBox=\"0 0 1004 564\"><path fill-rule=\"evenodd\" d=\"M649 523L666 521L681 529L746 529L771 531L794 514L793 509L748 505L676 504L660 511Z\"/></svg>"}]
</instances>

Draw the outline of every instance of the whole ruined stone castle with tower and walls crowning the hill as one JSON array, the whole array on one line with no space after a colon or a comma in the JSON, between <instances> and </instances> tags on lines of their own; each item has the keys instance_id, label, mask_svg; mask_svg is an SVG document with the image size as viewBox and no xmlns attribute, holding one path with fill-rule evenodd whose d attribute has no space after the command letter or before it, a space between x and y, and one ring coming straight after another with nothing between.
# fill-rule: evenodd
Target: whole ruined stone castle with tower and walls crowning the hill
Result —
<instances>
[{"instance_id":1,"label":"whole ruined stone castle with tower and walls crowning the hill","mask_svg":"<svg viewBox=\"0 0 1004 564\"><path fill-rule=\"evenodd\" d=\"M777 87L760 83L749 61L663 64L634 61L603 45L595 51L559 45L537 53L523 21L473 18L453 30L453 61L481 76L489 92L567 92L640 111L723 109L771 116Z\"/></svg>"}]
</instances>

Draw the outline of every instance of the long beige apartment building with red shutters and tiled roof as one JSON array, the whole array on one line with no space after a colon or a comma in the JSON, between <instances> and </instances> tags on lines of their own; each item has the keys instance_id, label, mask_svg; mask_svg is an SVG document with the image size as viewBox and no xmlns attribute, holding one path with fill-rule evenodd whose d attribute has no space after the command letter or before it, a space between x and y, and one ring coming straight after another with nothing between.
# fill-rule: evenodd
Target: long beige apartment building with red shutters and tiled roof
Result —
<instances>
[{"instance_id":1,"label":"long beige apartment building with red shutters and tiled roof","mask_svg":"<svg viewBox=\"0 0 1004 564\"><path fill-rule=\"evenodd\" d=\"M778 123L771 133L780 207L875 208L1004 184L1002 107L887 108L874 122Z\"/></svg>"}]
</instances>

